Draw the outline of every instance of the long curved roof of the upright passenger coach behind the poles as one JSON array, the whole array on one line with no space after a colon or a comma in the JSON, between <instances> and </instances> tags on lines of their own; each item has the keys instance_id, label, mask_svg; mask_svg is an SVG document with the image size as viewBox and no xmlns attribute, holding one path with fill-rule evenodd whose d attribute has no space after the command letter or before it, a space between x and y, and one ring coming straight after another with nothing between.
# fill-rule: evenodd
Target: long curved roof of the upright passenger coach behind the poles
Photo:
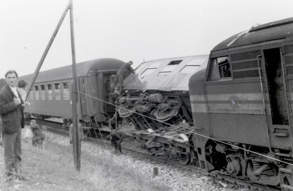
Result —
<instances>
[{"instance_id":1,"label":"long curved roof of the upright passenger coach behind the poles","mask_svg":"<svg viewBox=\"0 0 293 191\"><path fill-rule=\"evenodd\" d=\"M94 60L89 60L76 64L77 77L86 76L89 71L98 69L110 69L110 68L120 68L120 66L125 63L121 60L114 58L99 58ZM20 76L20 79L24 79L30 82L33 74ZM46 81L56 81L61 79L72 78L72 65L63 66L60 68L55 68L51 70L42 71L38 74L35 83L41 83Z\"/></svg>"}]
</instances>

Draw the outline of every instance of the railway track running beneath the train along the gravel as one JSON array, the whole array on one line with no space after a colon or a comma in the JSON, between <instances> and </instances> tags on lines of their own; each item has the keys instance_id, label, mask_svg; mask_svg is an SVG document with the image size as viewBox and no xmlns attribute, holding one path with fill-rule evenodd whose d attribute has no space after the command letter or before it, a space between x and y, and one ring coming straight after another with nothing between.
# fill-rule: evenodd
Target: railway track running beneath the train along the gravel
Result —
<instances>
[{"instance_id":1,"label":"railway track running beneath the train along the gravel","mask_svg":"<svg viewBox=\"0 0 293 191\"><path fill-rule=\"evenodd\" d=\"M68 131L60 129L62 127L61 124L54 123L54 122L48 122L48 121L40 121L40 124L43 126L43 129L45 129L47 131L69 136ZM93 142L96 144L104 145L108 148L111 147L111 144L108 141L103 140L103 139L85 137L84 141L89 141L89 142ZM225 182L227 185L230 185L228 187L236 186L236 187L240 187L240 188L241 187L246 188L246 189L252 190L252 191L280 191L281 190L281 188L279 188L279 187L271 188L271 187L267 187L265 185L254 184L254 183L249 182L248 180L245 180L245 179L233 178L233 177L222 174L220 171L205 172L196 166L182 165L181 163L174 161L174 160L170 160L166 157L150 155L149 153L146 153L146 152L138 150L138 149L132 149L132 148L128 148L125 146L122 146L122 148L124 151L126 151L128 153L139 154L139 155L142 155L146 158L150 158L152 160L158 161L159 163L166 163L166 164L173 165L173 166L176 166L176 167L179 167L182 169L190 170L192 172L195 172L195 173L198 173L201 175L209 175L209 177L214 178L215 182L221 181L221 182Z\"/></svg>"}]
</instances>

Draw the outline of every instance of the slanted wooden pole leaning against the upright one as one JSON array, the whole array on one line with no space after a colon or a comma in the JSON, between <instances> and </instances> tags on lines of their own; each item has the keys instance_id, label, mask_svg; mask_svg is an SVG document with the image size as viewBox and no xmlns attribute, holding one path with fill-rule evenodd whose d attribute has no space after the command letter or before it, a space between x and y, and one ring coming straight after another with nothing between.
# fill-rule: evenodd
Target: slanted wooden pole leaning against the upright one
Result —
<instances>
[{"instance_id":1,"label":"slanted wooden pole leaning against the upright one","mask_svg":"<svg viewBox=\"0 0 293 191\"><path fill-rule=\"evenodd\" d=\"M29 93L30 93L30 91L31 91L31 89L32 89L32 87L33 87L33 85L34 85L34 83L35 83L35 81L36 81L36 78L37 78L37 76L38 76L38 74L39 74L39 71L40 71L40 69L41 69L42 63L44 62L44 59L45 59L45 57L47 56L47 54L48 54L48 52L49 52L49 49L50 49L50 47L51 47L51 45L52 45L52 43L53 43L53 41L54 41L54 39L55 39L55 37L56 37L56 35L57 35L59 29L60 29L60 26L61 26L61 24L62 24L62 22L63 22L63 20L64 20L64 18L65 18L65 16L66 16L66 13L67 13L67 11L68 11L68 9L69 9L70 4L71 4L71 1L69 0L69 2L68 2L68 4L66 5L66 8L65 8L65 10L64 10L64 12L63 12L63 14L62 14L62 16L61 16L61 18L60 18L60 20L59 20L59 22L58 22L58 24L57 24L57 26L56 26L55 31L54 31L54 33L53 33L51 39L49 40L49 42L48 42L48 44L47 44L47 47L46 47L46 49L45 49L45 51L44 51L44 53L43 53L43 55L42 55L42 57L41 57L41 60L39 61L39 64L38 64L38 66L37 66L37 68L36 68L36 70L35 70L34 76L33 76L32 80L30 81L30 83L28 84L28 85L29 85L29 86L28 86L29 88L28 88L28 91L27 91L27 93L26 93L25 100L26 100L27 97L29 96ZM25 100L24 100L24 101L25 101Z\"/></svg>"}]
</instances>

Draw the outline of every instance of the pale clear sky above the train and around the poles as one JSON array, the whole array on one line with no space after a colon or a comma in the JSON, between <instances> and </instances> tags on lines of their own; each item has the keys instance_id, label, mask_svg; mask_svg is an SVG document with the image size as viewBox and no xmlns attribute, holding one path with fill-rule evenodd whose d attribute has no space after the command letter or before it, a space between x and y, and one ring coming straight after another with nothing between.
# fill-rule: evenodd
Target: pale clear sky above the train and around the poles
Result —
<instances>
[{"instance_id":1,"label":"pale clear sky above the train and around the poles","mask_svg":"<svg viewBox=\"0 0 293 191\"><path fill-rule=\"evenodd\" d=\"M68 0L0 0L0 78L34 73ZM255 24L293 17L293 0L73 0L77 63L209 54ZM41 71L72 64L69 12Z\"/></svg>"}]
</instances>

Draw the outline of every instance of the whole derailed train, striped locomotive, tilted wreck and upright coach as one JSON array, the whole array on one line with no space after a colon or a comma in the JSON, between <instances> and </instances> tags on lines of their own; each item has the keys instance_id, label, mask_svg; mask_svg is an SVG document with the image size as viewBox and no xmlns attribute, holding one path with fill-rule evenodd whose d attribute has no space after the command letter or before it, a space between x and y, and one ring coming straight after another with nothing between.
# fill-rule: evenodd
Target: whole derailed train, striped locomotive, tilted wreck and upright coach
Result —
<instances>
[{"instance_id":1,"label":"whole derailed train, striped locomotive, tilted wreck and upright coach","mask_svg":"<svg viewBox=\"0 0 293 191\"><path fill-rule=\"evenodd\" d=\"M124 80L118 97L115 72L124 62L95 61L107 64L78 75L80 117L87 126L131 121L152 154L173 154L182 164L293 190L293 18L236 34L209 56L144 62L137 77ZM61 105L70 106L70 86L62 85L70 77L57 77L39 78L27 112L50 107L43 114L71 117ZM44 100L47 108L37 104Z\"/></svg>"}]
</instances>

